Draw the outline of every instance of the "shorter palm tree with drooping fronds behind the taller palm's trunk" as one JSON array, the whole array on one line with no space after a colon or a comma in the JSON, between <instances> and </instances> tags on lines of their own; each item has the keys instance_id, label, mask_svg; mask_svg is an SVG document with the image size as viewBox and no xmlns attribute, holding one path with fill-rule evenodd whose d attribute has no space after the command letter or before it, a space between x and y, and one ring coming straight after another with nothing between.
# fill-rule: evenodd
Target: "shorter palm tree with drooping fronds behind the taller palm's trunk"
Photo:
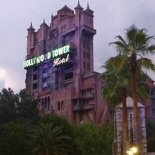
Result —
<instances>
[{"instance_id":1,"label":"shorter palm tree with drooping fronds behind the taller palm's trunk","mask_svg":"<svg viewBox=\"0 0 155 155\"><path fill-rule=\"evenodd\" d=\"M122 55L109 58L105 65L102 66L106 69L104 73L100 75L104 84L102 86L101 95L108 103L114 105L123 103L123 137L124 137L124 151L129 146L129 131L128 131L128 118L127 118L127 107L126 97L131 96L131 80L129 68L129 59L125 61L123 66L120 68ZM119 68L116 69L116 68ZM144 72L137 72L136 75L136 89L138 99L148 98L148 85L144 82L149 77Z\"/></svg>"}]
</instances>

